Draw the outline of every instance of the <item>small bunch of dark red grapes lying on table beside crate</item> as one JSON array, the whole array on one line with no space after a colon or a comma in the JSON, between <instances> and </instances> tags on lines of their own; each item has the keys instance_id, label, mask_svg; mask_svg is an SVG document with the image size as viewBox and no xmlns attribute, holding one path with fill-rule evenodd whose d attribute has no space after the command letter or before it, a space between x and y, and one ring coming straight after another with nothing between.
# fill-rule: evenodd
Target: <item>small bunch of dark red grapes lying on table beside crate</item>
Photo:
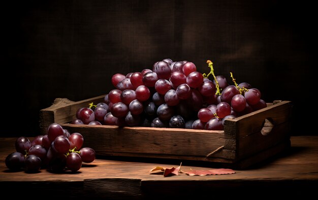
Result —
<instances>
[{"instance_id":1,"label":"small bunch of dark red grapes lying on table beside crate","mask_svg":"<svg viewBox=\"0 0 318 200\"><path fill-rule=\"evenodd\" d=\"M53 123L46 135L38 135L32 141L21 136L16 139L16 152L6 158L6 165L11 170L25 169L27 172L38 172L47 167L51 172L71 170L76 172L82 162L94 161L93 149L82 148L84 138L80 133L72 133ZM78 151L77 151L78 150Z\"/></svg>"}]
</instances>

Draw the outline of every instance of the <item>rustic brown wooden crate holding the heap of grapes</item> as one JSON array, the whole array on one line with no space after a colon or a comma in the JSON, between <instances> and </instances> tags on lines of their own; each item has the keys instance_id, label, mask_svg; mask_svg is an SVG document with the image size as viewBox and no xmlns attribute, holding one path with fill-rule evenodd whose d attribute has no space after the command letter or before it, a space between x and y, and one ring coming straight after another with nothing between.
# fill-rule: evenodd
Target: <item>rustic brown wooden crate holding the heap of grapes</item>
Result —
<instances>
[{"instance_id":1,"label":"rustic brown wooden crate holding the heap of grapes","mask_svg":"<svg viewBox=\"0 0 318 200\"><path fill-rule=\"evenodd\" d=\"M224 131L73 125L78 108L103 102L105 95L73 102L55 99L40 110L43 134L51 123L84 136L98 155L167 158L228 163L245 168L290 147L291 102L276 101L248 115L229 119Z\"/></svg>"}]
</instances>

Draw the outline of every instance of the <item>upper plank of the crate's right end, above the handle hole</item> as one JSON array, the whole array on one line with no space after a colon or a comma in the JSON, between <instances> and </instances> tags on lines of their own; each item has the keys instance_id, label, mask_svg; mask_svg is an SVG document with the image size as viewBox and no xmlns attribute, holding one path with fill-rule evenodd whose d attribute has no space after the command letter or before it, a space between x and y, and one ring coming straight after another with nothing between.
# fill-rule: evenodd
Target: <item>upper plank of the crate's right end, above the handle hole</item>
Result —
<instances>
[{"instance_id":1,"label":"upper plank of the crate's right end, above the handle hole","mask_svg":"<svg viewBox=\"0 0 318 200\"><path fill-rule=\"evenodd\" d=\"M279 125L289 121L290 118L290 101L281 101L247 115L235 119L227 119L224 128L225 138L238 139L259 132L263 128L265 119L273 122L274 125Z\"/></svg>"}]
</instances>

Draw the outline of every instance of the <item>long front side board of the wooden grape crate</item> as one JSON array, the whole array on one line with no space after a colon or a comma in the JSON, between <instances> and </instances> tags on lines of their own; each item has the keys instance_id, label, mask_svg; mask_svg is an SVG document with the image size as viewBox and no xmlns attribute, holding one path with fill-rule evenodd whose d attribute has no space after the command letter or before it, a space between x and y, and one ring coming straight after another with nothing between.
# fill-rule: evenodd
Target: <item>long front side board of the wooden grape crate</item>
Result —
<instances>
[{"instance_id":1,"label":"long front side board of the wooden grape crate","mask_svg":"<svg viewBox=\"0 0 318 200\"><path fill-rule=\"evenodd\" d=\"M224 131L185 130L63 124L84 136L84 145L99 152L165 154L206 157L224 146ZM235 159L234 151L217 151L209 157ZM223 153L222 153L223 152Z\"/></svg>"}]
</instances>

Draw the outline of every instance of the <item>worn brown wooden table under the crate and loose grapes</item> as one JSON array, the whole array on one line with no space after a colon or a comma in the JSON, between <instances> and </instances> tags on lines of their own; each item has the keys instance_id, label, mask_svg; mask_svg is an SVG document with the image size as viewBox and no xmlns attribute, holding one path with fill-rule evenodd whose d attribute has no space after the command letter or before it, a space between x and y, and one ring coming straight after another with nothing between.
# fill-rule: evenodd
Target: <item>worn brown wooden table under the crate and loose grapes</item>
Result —
<instances>
[{"instance_id":1,"label":"worn brown wooden table under the crate and loose grapes","mask_svg":"<svg viewBox=\"0 0 318 200\"><path fill-rule=\"evenodd\" d=\"M10 172L5 158L14 152L15 138L0 140L0 188L12 196L68 199L163 199L164 197L305 197L318 192L318 136L291 137L292 147L284 155L260 166L216 176L163 177L149 174L155 166L177 167L179 162L149 163L97 159L77 173L37 174ZM147 160L148 161L148 160ZM157 160L163 162L163 160ZM206 169L201 165L181 169ZM211 168L208 168L211 169ZM9 189L13 189L14 193ZM199 197L199 198L198 198ZM188 198L187 198L188 199Z\"/></svg>"}]
</instances>

